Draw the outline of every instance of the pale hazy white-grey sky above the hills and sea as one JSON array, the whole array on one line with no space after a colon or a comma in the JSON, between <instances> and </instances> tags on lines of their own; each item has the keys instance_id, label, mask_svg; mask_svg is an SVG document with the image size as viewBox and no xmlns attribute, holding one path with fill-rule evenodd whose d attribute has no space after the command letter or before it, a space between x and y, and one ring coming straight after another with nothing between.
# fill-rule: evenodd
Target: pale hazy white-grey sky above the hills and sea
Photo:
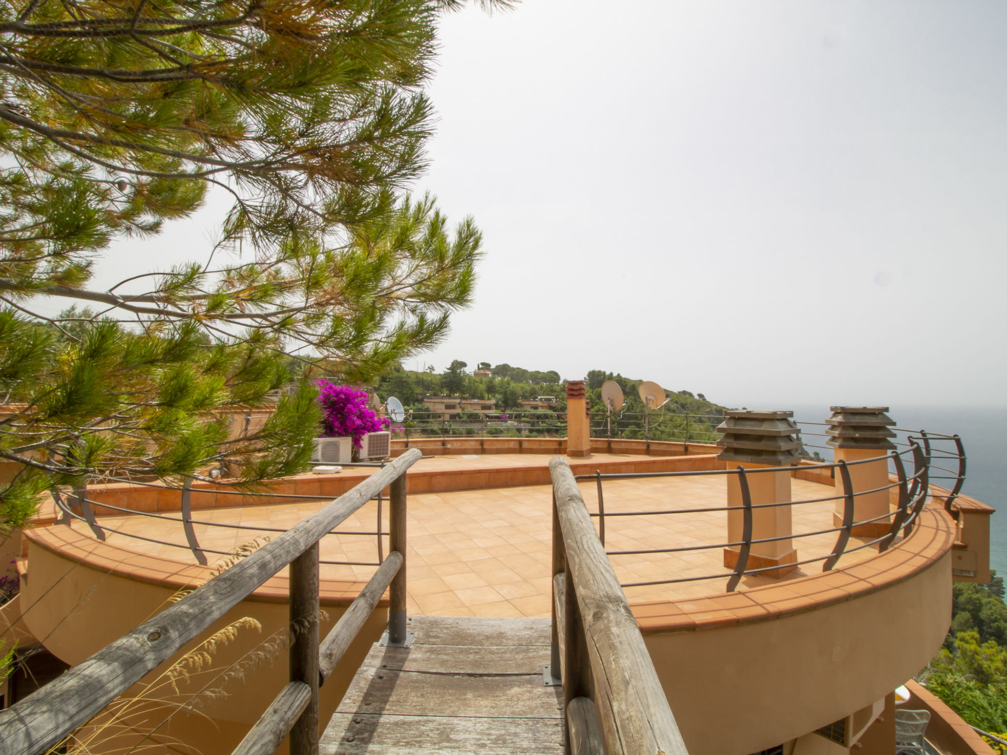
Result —
<instances>
[{"instance_id":1,"label":"pale hazy white-grey sky above the hills and sea","mask_svg":"<svg viewBox=\"0 0 1007 755\"><path fill-rule=\"evenodd\" d=\"M443 22L429 188L476 303L417 362L728 405L1007 405L1007 4L526 0ZM117 245L184 259L211 202Z\"/></svg>"}]
</instances>

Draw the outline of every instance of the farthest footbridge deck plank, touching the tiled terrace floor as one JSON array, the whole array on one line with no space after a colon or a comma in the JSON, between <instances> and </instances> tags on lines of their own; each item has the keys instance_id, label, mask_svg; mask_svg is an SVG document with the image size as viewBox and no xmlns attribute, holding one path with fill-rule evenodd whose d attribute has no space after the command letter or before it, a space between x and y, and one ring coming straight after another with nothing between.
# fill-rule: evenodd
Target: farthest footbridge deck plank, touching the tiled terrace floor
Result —
<instances>
[{"instance_id":1,"label":"farthest footbridge deck plank, touching the tiled terrace floor","mask_svg":"<svg viewBox=\"0 0 1007 755\"><path fill-rule=\"evenodd\" d=\"M550 626L549 619L414 616L409 631L414 644L513 647L548 645Z\"/></svg>"}]
</instances>

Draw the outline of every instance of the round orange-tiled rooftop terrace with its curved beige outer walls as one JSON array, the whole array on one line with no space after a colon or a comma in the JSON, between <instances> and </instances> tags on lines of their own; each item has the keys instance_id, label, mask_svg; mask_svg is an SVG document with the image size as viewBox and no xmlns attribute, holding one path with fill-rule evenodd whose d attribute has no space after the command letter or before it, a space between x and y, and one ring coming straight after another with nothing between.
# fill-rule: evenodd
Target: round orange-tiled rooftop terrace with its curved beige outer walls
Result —
<instances>
[{"instance_id":1,"label":"round orange-tiled rooftop terrace with its curved beige outer walls","mask_svg":"<svg viewBox=\"0 0 1007 755\"><path fill-rule=\"evenodd\" d=\"M348 637L338 640L342 649L337 657L324 649L329 639L320 651L322 676L332 674L317 697L322 726L339 712L325 734L326 752L366 752L369 742L380 741L398 747L405 735L387 727L414 715L454 717L453 723L436 726L448 727L452 737L471 738L474 724L466 717L483 716L479 711L484 709L497 721L492 726L507 729L499 751L517 752L506 749L514 741L509 738L521 736L518 729L508 729L508 721L518 715L514 711L524 711L519 718L528 718L519 729L541 728L542 721L554 718L556 696L543 694L540 669L547 649L542 633L550 617L547 668L557 665L557 653L573 652L561 645L571 641L581 623L591 636L601 633L588 645L594 681L577 693L590 697L592 705L612 699L596 687L602 676L625 682L618 693L621 700L634 694L633 680L645 671L651 674L648 695L654 697L638 705L649 711L648 717L658 718L670 705L674 720L663 731L678 737L673 732L677 721L691 753L758 751L851 712L868 722L883 720L879 699L887 700L943 640L950 615L940 596L950 590L953 573L955 579L971 581L988 574L983 535L988 537L991 509L958 495L964 454L954 438L944 441L951 444L950 451L941 451L936 438L923 437L925 451L916 440L900 446L901 467L894 455L877 451L847 454L834 464L796 458L800 463L794 466L775 467L736 465L723 458L720 448L673 442L590 439L580 456L557 459L570 451L566 439L414 439L409 458L393 462L391 469L347 466L339 474L298 475L255 494L201 481L189 489L136 481L90 485L86 495L80 491L84 506L76 506L80 501L74 499L53 502L39 526L25 533L30 549L22 569L30 579L22 597L43 606L25 623L34 636L46 637L54 653L71 665L82 664L96 651L107 652L123 632L149 633L145 617L151 610L161 610L158 616L173 610L156 608L169 605L170 600L163 601L173 592L193 587L198 589L192 596L227 591L211 578L219 572L214 563L236 561L229 554L258 539L247 549L251 557L238 558L225 574L243 565L251 569L252 562L274 558L281 547L289 551L290 536L316 522L311 526L312 537L320 538L319 566L311 569L318 569L317 588L304 582L303 571L294 573L295 564L308 556L304 552L289 561L289 568L282 566L288 562L255 567L261 574L245 588L244 597L232 596L232 608L224 606L214 615L231 611L230 618L220 620L254 617L264 633L282 632L288 610L290 616L297 611L310 615L294 596L317 596L325 612L320 633L330 629L329 638ZM748 447L755 442L741 440ZM790 453L794 445L785 439L771 442L773 453ZM394 455L405 452L404 445L398 441ZM954 489L932 485L929 474L947 476ZM371 479L376 475L379 479ZM392 479L398 481L386 486ZM393 504L390 495L399 502ZM561 535L557 516L565 517ZM333 523L319 528L319 521ZM588 553L589 562L578 566ZM581 606L577 611L586 612L570 614L572 605L580 605L571 603L566 592L571 578L580 580L576 600L598 600L584 604L596 608ZM401 580L398 587L394 580ZM597 593L594 598L592 592ZM71 621L66 620L67 604ZM386 606L388 614L383 613ZM602 614L607 618L597 623ZM345 623L352 615L359 618ZM564 615L579 620L564 623ZM371 647L386 626L390 641L405 637L407 616L417 617L418 646L412 655ZM525 628L532 624L520 622L542 622L535 624L542 636L518 651L487 635L486 646L476 653L479 643L474 641L471 646L462 642L462 647L453 635L428 636L441 631L430 622L445 617L462 617L450 624L462 634L471 629L457 623L471 620L464 617L503 622L485 625L498 637L511 631L507 622ZM203 620L204 628L212 620ZM616 630L620 621L629 624ZM140 628L131 632L138 623ZM476 625L483 626L471 624ZM891 627L898 630L889 631ZM633 659L614 649L630 635L640 643ZM231 652L240 657L255 651L258 641L240 640ZM455 645L458 649L451 649ZM484 670L486 653L506 655L505 670ZM422 665L427 655L437 656L429 668ZM526 667L533 656L535 668ZM564 664L573 662L562 656ZM327 657L335 659L326 665ZM339 657L345 659L336 670ZM293 663L293 654L291 658ZM399 665L386 670L393 661ZM258 673L260 684L243 691L241 705L213 704L217 734L197 731L193 723L186 725L194 727L186 736L215 738L222 751L234 749L269 707L284 675L278 669ZM303 678L312 677L310 670L306 673ZM391 684L389 673L401 684ZM426 677L412 675L417 673L457 676L451 684L460 685L459 690L484 687L485 695L466 698L471 705L459 714L457 706L428 700L433 696L439 701L440 694L427 690ZM494 674L502 676L485 685L470 678ZM515 678L507 682L505 676ZM571 678L564 677L564 687L581 689L576 674ZM512 688L531 696L521 699L528 705L534 699L534 706L489 705L494 695L512 695ZM732 699L737 727L710 729L725 691L755 688L758 696ZM565 691L564 705L570 694ZM277 705L280 701L278 697ZM369 708L374 701L390 715L383 718L380 710ZM786 712L785 721L780 711ZM620 718L623 714L628 718ZM598 716L621 722L608 725L635 726L631 710L599 709ZM359 730L357 719L367 724ZM420 727L416 736L424 731ZM536 752L555 750L558 741L548 726L536 731L541 742L551 743ZM637 735L650 736L645 727L632 737ZM356 744L343 744L352 742ZM606 742L606 752L619 751L610 745Z\"/></svg>"}]
</instances>

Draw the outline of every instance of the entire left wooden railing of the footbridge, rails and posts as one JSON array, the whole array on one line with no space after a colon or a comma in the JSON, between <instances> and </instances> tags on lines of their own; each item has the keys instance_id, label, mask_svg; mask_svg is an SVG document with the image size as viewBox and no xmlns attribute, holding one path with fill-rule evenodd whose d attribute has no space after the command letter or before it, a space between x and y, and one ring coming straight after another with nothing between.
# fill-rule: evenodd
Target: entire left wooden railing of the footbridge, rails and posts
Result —
<instances>
[{"instance_id":1,"label":"entire left wooden railing of the footbridge, rails and posts","mask_svg":"<svg viewBox=\"0 0 1007 755\"><path fill-rule=\"evenodd\" d=\"M407 451L317 513L0 712L0 755L48 752L288 564L290 684L234 752L269 755L289 733L291 755L316 755L318 688L390 586L388 643L406 641L406 470L420 457L417 449ZM389 486L391 553L319 643L318 541Z\"/></svg>"}]
</instances>

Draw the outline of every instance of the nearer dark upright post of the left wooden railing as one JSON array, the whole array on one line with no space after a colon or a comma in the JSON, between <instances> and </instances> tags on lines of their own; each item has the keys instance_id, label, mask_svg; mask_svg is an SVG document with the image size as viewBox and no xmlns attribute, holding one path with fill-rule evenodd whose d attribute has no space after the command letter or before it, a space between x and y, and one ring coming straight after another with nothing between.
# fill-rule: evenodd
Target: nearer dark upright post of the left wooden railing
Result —
<instances>
[{"instance_id":1,"label":"nearer dark upright post of the left wooden railing","mask_svg":"<svg viewBox=\"0 0 1007 755\"><path fill-rule=\"evenodd\" d=\"M290 730L290 755L318 755L318 541L290 562L290 681L311 690Z\"/></svg>"}]
</instances>

